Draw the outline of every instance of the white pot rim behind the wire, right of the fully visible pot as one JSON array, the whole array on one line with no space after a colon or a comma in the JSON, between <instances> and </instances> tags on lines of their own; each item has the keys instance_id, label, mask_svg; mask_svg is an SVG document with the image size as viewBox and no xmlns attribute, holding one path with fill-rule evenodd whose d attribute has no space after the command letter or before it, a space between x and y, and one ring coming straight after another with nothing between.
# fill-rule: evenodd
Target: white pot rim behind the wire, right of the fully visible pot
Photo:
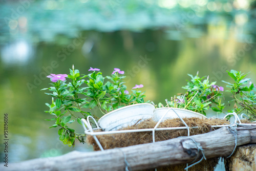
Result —
<instances>
[{"instance_id":1,"label":"white pot rim behind the wire, right of the fully visible pot","mask_svg":"<svg viewBox=\"0 0 256 171\"><path fill-rule=\"evenodd\" d=\"M164 116L162 121L164 121L166 119L179 118L177 116L177 114L172 109L174 109L175 112L181 118L185 118L185 117L187 117L187 118L198 117L198 118L205 118L205 119L207 119L206 116L204 116L204 115L202 115L200 113L189 111L189 110L185 110L185 109L180 109L180 108L158 108L158 109L155 109L155 111L154 111L153 120L158 122L161 119L161 117L166 114L166 112L168 112L168 113Z\"/></svg>"}]
</instances>

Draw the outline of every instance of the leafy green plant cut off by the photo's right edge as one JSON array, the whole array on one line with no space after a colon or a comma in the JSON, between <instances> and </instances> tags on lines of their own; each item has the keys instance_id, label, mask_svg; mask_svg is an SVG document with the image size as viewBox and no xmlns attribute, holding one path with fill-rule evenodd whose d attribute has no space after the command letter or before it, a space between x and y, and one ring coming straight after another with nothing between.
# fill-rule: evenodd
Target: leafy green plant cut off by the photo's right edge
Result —
<instances>
[{"instance_id":1,"label":"leafy green plant cut off by the photo's right edge","mask_svg":"<svg viewBox=\"0 0 256 171\"><path fill-rule=\"evenodd\" d=\"M238 72L236 70L227 71L228 75L232 78L233 82L226 82L226 86L230 90L227 92L232 94L234 109L230 112L237 114L245 112L250 120L256 119L256 94L253 83L249 83L250 78L245 78L248 74ZM248 84L248 86L245 86Z\"/></svg>"}]
</instances>

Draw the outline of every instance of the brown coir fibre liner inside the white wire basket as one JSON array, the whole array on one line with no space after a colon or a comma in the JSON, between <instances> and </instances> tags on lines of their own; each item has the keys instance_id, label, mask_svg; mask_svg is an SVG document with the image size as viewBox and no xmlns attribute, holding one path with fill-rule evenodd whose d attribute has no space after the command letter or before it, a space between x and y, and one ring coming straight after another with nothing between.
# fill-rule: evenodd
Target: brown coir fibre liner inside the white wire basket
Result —
<instances>
[{"instance_id":1,"label":"brown coir fibre liner inside the white wire basket","mask_svg":"<svg viewBox=\"0 0 256 171\"><path fill-rule=\"evenodd\" d=\"M183 118L186 124L190 127L199 126L198 129L190 129L190 135L198 135L213 131L210 125L223 125L229 124L229 121L224 119L200 119L200 118ZM138 124L124 127L122 130L135 130L135 129L150 129L154 128L157 122L152 119L144 120ZM177 119L167 119L159 124L158 127L180 127L185 126L182 121ZM156 131L155 141L163 141L167 139L177 138L179 136L187 136L187 130L168 130L168 131ZM153 142L152 132L139 132L139 133L121 133L111 135L98 135L99 142L104 149L110 149L115 147L125 147L136 144L144 144ZM93 136L87 136L87 143L92 144L95 151L100 150L96 144ZM189 171L214 171L215 166L218 164L219 158L212 158L201 161L199 164L190 167ZM162 168L157 168L158 171L173 171L184 170L186 164L172 165ZM155 169L150 169L150 171Z\"/></svg>"}]
</instances>

